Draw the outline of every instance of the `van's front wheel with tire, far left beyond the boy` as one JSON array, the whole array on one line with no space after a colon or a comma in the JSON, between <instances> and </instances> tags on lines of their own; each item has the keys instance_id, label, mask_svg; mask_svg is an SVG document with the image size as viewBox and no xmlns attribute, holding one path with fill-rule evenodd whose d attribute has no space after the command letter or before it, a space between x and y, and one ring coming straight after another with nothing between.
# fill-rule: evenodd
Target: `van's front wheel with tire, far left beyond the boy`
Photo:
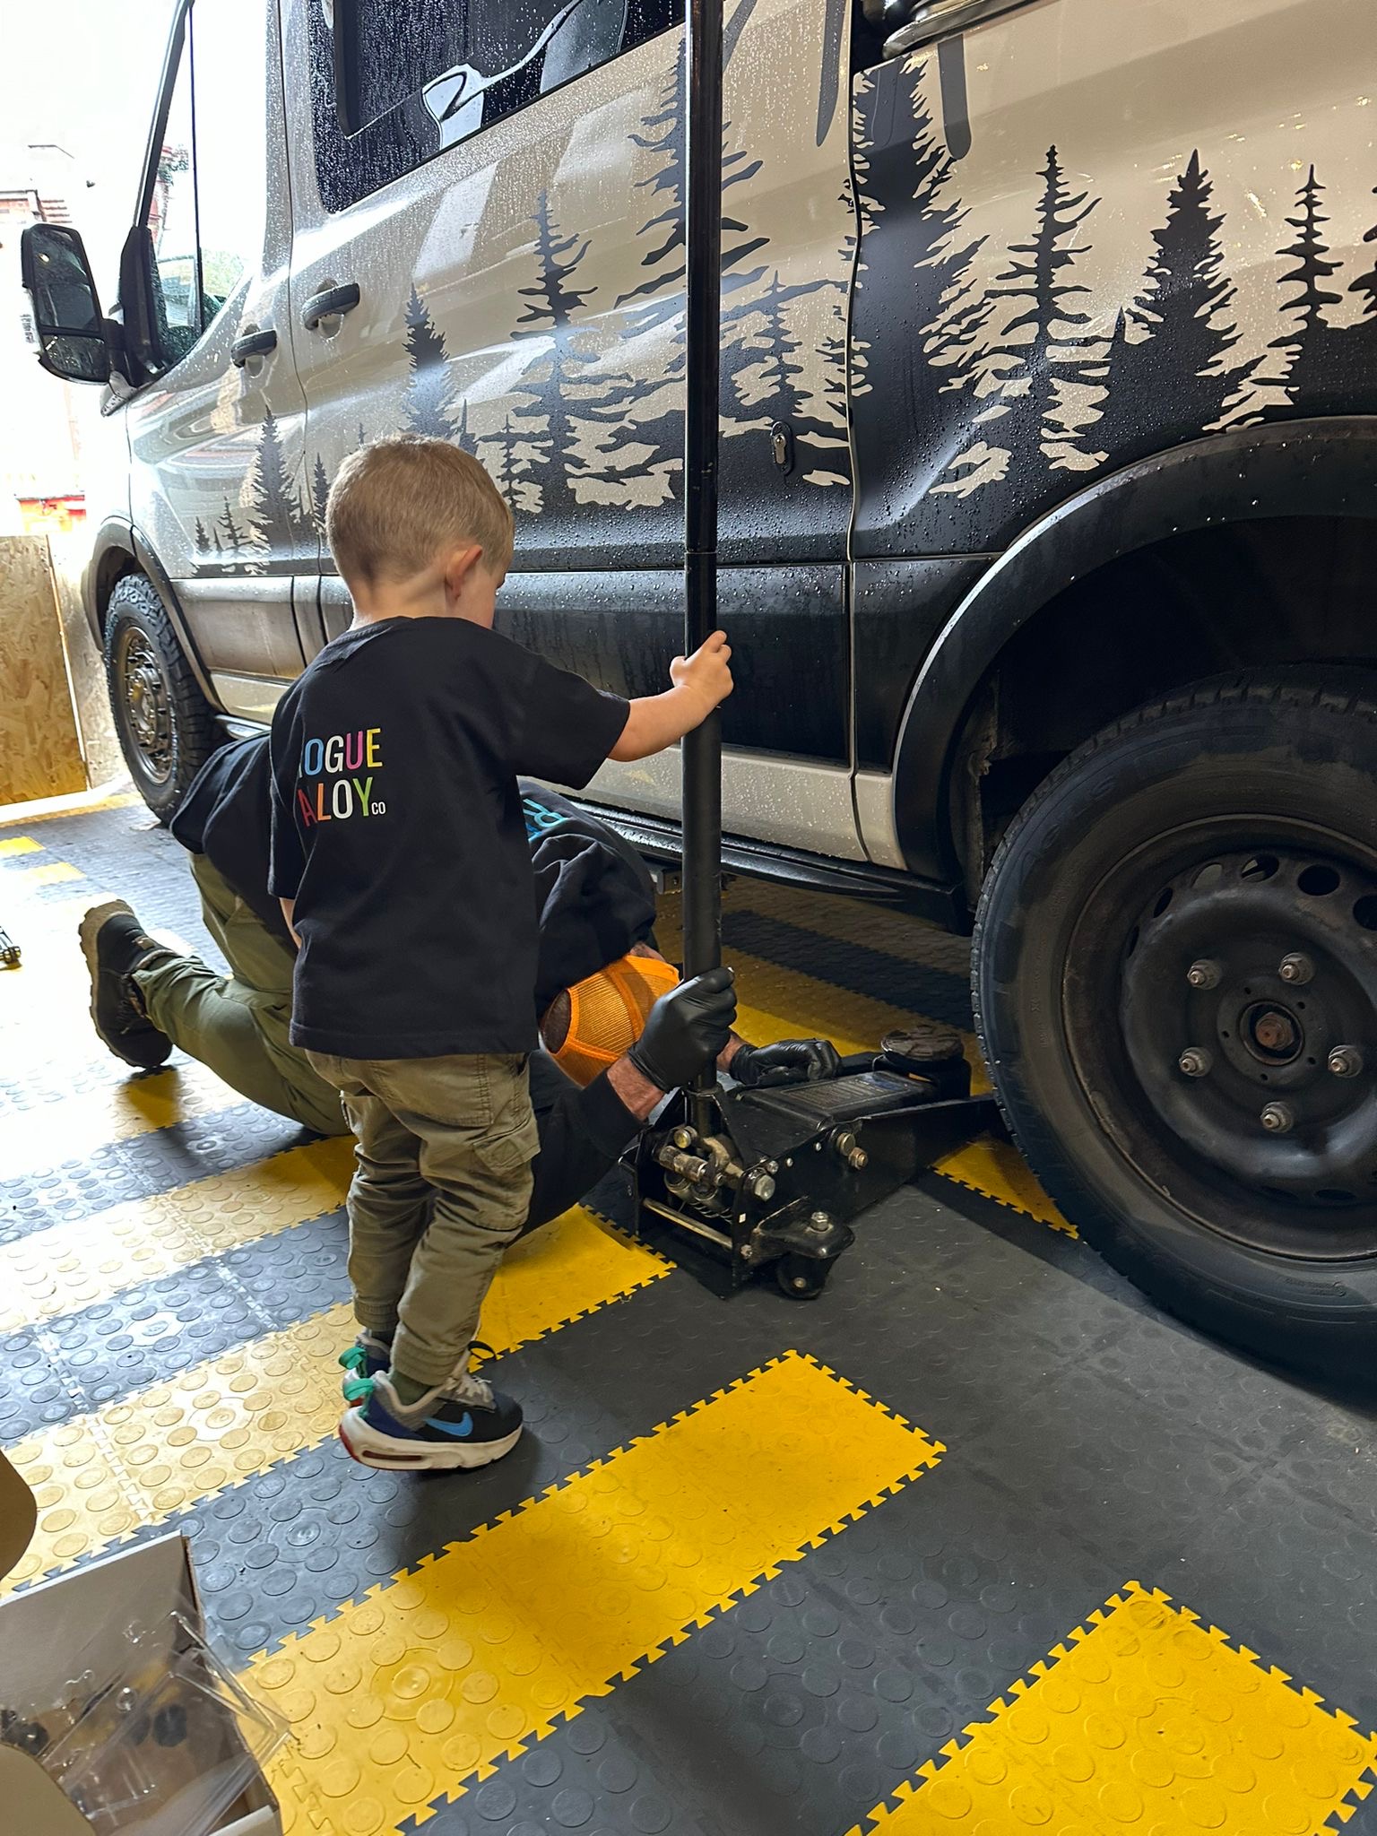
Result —
<instances>
[{"instance_id":1,"label":"van's front wheel with tire, far left beyond the boy","mask_svg":"<svg viewBox=\"0 0 1377 1836\"><path fill-rule=\"evenodd\" d=\"M224 734L145 575L125 575L110 595L105 679L134 788L169 823Z\"/></svg>"}]
</instances>

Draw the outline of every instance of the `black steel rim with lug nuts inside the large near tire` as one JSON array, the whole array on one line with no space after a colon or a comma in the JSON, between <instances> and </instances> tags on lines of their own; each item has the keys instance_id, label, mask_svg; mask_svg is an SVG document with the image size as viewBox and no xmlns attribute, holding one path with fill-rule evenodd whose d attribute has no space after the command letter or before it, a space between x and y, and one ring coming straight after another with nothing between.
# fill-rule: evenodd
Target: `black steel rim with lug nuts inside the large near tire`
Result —
<instances>
[{"instance_id":1,"label":"black steel rim with lug nuts inside the large near tire","mask_svg":"<svg viewBox=\"0 0 1377 1836\"><path fill-rule=\"evenodd\" d=\"M1190 867L1129 936L1120 1028L1210 1170L1316 1225L1377 1206L1377 878L1302 848Z\"/></svg>"}]
</instances>

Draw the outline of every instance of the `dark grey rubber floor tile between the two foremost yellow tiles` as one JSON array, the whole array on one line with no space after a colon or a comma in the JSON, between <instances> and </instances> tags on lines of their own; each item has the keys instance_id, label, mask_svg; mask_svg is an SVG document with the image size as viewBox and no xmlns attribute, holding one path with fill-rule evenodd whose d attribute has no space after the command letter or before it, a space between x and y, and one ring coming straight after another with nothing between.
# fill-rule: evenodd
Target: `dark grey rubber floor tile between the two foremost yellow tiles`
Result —
<instances>
[{"instance_id":1,"label":"dark grey rubber floor tile between the two foremost yellow tiles","mask_svg":"<svg viewBox=\"0 0 1377 1836\"><path fill-rule=\"evenodd\" d=\"M1116 1584L947 1458L426 1827L841 1836Z\"/></svg>"}]
</instances>

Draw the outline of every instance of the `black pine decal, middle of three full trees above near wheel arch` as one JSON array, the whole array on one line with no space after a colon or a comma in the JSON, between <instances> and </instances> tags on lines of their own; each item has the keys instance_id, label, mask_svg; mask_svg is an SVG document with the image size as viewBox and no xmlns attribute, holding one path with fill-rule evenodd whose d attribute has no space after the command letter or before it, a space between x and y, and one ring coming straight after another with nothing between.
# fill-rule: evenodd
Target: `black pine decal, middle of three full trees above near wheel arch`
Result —
<instances>
[{"instance_id":1,"label":"black pine decal, middle of three full trees above near wheel arch","mask_svg":"<svg viewBox=\"0 0 1377 1836\"><path fill-rule=\"evenodd\" d=\"M1162 446L1168 419L1179 439L1203 433L1221 419L1254 367L1226 364L1239 341L1236 288L1223 272L1225 218L1210 206L1210 174L1199 152L1192 152L1168 196L1166 224L1153 233L1142 290L1120 310L1109 345L1109 395L1087 439L1111 465Z\"/></svg>"}]
</instances>

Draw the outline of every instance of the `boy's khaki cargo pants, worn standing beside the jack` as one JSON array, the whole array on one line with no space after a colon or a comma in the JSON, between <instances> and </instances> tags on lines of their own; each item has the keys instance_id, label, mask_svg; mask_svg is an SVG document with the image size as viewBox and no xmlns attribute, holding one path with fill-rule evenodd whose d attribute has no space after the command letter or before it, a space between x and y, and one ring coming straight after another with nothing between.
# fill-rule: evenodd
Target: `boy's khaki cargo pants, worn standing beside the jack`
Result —
<instances>
[{"instance_id":1,"label":"boy's khaki cargo pants, worn standing beside the jack","mask_svg":"<svg viewBox=\"0 0 1377 1836\"><path fill-rule=\"evenodd\" d=\"M406 1377L442 1384L466 1362L483 1296L531 1206L540 1151L525 1058L332 1058L356 1140L349 1280L360 1326L391 1333Z\"/></svg>"}]
</instances>

